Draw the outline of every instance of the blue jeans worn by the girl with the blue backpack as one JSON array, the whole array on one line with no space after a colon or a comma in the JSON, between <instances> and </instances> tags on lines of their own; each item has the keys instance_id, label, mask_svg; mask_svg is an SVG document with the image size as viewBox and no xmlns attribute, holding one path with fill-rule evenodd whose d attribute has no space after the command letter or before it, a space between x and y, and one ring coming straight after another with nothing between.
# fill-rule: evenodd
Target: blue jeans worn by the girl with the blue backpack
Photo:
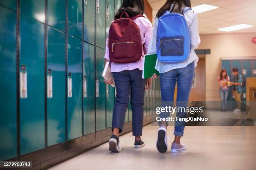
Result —
<instances>
[{"instance_id":1,"label":"blue jeans worn by the girl with the blue backpack","mask_svg":"<svg viewBox=\"0 0 256 170\"><path fill-rule=\"evenodd\" d=\"M177 82L177 107L187 107L189 93L194 77L195 62L187 67L177 68L160 74L161 85L161 107L172 106L174 101L174 90ZM160 117L170 116L169 112L160 114ZM186 112L177 112L177 117L187 117ZM184 121L176 121L174 135L183 136L185 128Z\"/></svg>"}]
</instances>

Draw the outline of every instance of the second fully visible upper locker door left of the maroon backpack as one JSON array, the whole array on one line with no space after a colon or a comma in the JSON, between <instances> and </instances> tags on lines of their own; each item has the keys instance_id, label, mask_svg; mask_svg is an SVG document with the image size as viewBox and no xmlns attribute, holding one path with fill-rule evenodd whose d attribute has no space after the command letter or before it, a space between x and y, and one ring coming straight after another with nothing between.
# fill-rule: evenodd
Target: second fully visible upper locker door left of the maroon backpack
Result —
<instances>
[{"instance_id":1,"label":"second fully visible upper locker door left of the maroon backpack","mask_svg":"<svg viewBox=\"0 0 256 170\"><path fill-rule=\"evenodd\" d=\"M95 45L95 0L84 1L84 41Z\"/></svg>"}]
</instances>

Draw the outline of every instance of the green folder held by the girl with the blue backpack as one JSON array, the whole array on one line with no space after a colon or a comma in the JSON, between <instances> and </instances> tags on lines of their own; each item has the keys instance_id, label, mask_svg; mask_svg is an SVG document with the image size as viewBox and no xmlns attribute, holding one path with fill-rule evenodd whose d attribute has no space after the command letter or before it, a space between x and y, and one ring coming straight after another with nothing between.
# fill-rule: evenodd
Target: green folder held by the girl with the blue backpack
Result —
<instances>
[{"instance_id":1,"label":"green folder held by the girl with the blue backpack","mask_svg":"<svg viewBox=\"0 0 256 170\"><path fill-rule=\"evenodd\" d=\"M142 78L146 79L148 77L152 77L154 73L156 73L156 75L160 75L160 73L155 69L156 59L156 54L149 54L143 57Z\"/></svg>"}]
</instances>

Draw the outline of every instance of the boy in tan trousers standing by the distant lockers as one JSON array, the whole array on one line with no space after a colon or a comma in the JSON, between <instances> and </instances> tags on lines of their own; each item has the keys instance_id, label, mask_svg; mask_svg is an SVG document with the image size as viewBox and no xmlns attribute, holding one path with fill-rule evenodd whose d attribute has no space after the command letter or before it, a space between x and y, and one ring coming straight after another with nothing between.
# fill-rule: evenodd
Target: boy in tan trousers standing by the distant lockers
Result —
<instances>
[{"instance_id":1,"label":"boy in tan trousers standing by the distant lockers","mask_svg":"<svg viewBox=\"0 0 256 170\"><path fill-rule=\"evenodd\" d=\"M233 85L233 95L236 101L236 109L233 112L241 112L241 93L243 92L243 77L239 74L238 68L233 68L233 77L230 85Z\"/></svg>"}]
</instances>

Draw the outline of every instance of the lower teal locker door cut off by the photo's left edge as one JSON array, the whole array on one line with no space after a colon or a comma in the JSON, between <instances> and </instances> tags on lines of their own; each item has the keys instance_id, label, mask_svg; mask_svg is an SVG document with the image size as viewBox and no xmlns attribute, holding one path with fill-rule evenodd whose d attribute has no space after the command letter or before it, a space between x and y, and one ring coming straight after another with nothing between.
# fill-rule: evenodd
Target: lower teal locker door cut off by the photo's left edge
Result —
<instances>
[{"instance_id":1,"label":"lower teal locker door cut off by the photo's left edge","mask_svg":"<svg viewBox=\"0 0 256 170\"><path fill-rule=\"evenodd\" d=\"M16 13L0 6L0 160L17 156L15 23Z\"/></svg>"}]
</instances>

